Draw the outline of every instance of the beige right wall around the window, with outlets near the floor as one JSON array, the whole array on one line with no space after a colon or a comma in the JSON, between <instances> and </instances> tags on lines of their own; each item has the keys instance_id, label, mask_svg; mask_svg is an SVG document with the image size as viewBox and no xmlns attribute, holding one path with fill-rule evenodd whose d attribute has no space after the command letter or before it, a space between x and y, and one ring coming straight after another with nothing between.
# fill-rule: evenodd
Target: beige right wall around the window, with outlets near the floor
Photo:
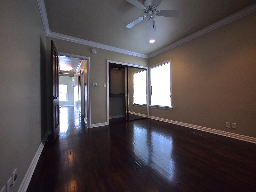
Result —
<instances>
[{"instance_id":1,"label":"beige right wall around the window, with outlets near the floor","mask_svg":"<svg viewBox=\"0 0 256 192\"><path fill-rule=\"evenodd\" d=\"M172 60L173 96L173 110L149 115L256 137L255 20L256 12L149 59Z\"/></svg>"}]
</instances>

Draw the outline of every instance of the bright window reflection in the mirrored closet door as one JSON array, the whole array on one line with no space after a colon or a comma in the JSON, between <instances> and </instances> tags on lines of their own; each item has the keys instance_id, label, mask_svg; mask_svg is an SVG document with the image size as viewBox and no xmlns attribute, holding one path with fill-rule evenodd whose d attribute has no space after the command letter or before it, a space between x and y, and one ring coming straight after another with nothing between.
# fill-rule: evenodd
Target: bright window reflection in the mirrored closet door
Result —
<instances>
[{"instance_id":1,"label":"bright window reflection in the mirrored closet door","mask_svg":"<svg viewBox=\"0 0 256 192\"><path fill-rule=\"evenodd\" d=\"M133 74L133 104L147 105L146 70Z\"/></svg>"}]
</instances>

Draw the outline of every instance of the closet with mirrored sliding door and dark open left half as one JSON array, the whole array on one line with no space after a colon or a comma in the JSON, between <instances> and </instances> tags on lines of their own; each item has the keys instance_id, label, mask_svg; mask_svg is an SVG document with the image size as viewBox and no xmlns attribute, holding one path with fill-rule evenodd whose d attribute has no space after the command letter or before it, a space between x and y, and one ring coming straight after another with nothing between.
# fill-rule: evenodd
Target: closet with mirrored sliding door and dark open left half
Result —
<instances>
[{"instance_id":1,"label":"closet with mirrored sliding door and dark open left half","mask_svg":"<svg viewBox=\"0 0 256 192\"><path fill-rule=\"evenodd\" d=\"M108 124L148 117L148 68L107 61Z\"/></svg>"}]
</instances>

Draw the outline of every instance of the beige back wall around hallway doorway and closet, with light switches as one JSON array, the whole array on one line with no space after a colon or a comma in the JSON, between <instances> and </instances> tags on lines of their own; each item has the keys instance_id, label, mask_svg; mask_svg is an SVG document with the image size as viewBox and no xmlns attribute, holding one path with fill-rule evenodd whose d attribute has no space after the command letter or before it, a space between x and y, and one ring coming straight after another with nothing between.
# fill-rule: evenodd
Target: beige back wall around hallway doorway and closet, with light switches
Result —
<instances>
[{"instance_id":1,"label":"beige back wall around hallway doorway and closet, with light switches","mask_svg":"<svg viewBox=\"0 0 256 192\"><path fill-rule=\"evenodd\" d=\"M50 40L53 40L59 52L90 57L91 124L107 122L107 87L103 87L103 83L107 83L107 60L148 66L148 59L99 48L95 48L97 53L93 54L91 50L94 47L50 37L46 37L47 54L50 54ZM98 86L92 87L92 83L97 83ZM50 127L50 124L48 126Z\"/></svg>"}]
</instances>

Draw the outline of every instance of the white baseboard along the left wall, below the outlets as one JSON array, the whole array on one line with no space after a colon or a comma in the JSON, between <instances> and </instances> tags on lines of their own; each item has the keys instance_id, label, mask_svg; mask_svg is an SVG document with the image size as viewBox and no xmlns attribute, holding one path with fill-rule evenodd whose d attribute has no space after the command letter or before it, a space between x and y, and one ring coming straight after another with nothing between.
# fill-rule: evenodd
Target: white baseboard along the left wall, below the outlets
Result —
<instances>
[{"instance_id":1,"label":"white baseboard along the left wall, below the outlets","mask_svg":"<svg viewBox=\"0 0 256 192\"><path fill-rule=\"evenodd\" d=\"M47 139L47 137L48 137L48 133L45 134L43 141L45 141ZM39 148L36 151L36 155L34 156L30 166L28 167L27 173L26 173L24 179L22 180L22 182L20 184L20 188L19 188L18 192L25 192L25 191L27 191L29 182L31 180L31 177L32 177L34 171L35 171L36 164L37 164L38 159L39 159L39 157L40 157L40 155L42 153L43 148L44 148L44 143L41 142Z\"/></svg>"}]
</instances>

